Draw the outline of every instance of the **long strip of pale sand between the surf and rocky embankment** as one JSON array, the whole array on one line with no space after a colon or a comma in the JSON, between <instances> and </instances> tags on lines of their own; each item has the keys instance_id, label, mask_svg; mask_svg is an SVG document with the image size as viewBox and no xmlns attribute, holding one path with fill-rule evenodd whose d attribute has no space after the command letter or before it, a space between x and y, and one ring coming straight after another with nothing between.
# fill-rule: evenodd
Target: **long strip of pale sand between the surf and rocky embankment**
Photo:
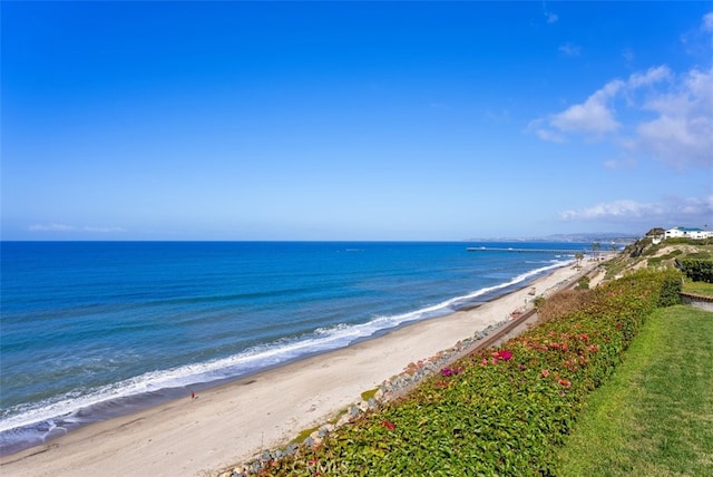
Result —
<instances>
[{"instance_id":1,"label":"long strip of pale sand between the surf and rocky embankment","mask_svg":"<svg viewBox=\"0 0 713 477\"><path fill-rule=\"evenodd\" d=\"M584 272L596 267L585 263ZM481 306L411 324L383 337L213 388L196 399L80 428L2 457L3 476L213 476L262 449L286 444L360 400L363 391L488 325L583 271L555 270Z\"/></svg>"}]
</instances>

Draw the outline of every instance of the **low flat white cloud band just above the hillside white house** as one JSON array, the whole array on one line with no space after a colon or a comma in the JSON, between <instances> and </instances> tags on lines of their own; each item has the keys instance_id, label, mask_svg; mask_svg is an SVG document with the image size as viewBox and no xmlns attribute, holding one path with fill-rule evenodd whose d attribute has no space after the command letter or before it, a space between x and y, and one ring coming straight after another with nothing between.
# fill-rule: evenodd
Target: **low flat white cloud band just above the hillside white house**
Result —
<instances>
[{"instance_id":1,"label":"low flat white cloud band just above the hillside white house","mask_svg":"<svg viewBox=\"0 0 713 477\"><path fill-rule=\"evenodd\" d=\"M559 213L564 221L646 222L661 225L699 225L713 217L713 195L707 197L667 197L661 203L629 199L600 203Z\"/></svg>"}]
</instances>

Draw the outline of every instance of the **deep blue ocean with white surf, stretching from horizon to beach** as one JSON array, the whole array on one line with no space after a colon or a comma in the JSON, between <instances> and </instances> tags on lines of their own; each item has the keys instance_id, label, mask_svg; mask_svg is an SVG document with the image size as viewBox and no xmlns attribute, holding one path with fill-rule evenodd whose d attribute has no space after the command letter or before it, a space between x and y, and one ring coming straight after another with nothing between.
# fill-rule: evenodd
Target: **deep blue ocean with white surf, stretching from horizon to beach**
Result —
<instances>
[{"instance_id":1,"label":"deep blue ocean with white surf, stretching from horizon to beach","mask_svg":"<svg viewBox=\"0 0 713 477\"><path fill-rule=\"evenodd\" d=\"M2 242L0 455L477 304L588 249Z\"/></svg>"}]
</instances>

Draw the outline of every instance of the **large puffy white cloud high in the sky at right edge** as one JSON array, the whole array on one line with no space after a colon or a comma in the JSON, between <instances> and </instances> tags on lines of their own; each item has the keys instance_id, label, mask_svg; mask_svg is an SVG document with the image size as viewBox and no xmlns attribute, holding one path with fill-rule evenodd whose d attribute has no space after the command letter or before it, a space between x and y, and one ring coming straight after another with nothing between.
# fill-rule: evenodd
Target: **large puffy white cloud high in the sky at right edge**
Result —
<instances>
[{"instance_id":1,"label":"large puffy white cloud high in the sky at right edge","mask_svg":"<svg viewBox=\"0 0 713 477\"><path fill-rule=\"evenodd\" d=\"M713 68L674 75L660 66L614 79L584 103L531 121L528 130L553 142L572 135L609 139L676 168L713 166Z\"/></svg>"}]
</instances>

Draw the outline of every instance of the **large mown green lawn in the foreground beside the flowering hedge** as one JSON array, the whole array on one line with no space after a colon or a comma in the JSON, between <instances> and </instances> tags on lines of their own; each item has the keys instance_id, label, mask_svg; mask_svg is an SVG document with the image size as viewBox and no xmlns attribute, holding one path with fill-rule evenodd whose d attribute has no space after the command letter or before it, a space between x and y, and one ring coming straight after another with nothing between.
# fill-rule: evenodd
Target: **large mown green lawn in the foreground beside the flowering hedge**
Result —
<instances>
[{"instance_id":1,"label":"large mown green lawn in the foreground beside the flowering hedge","mask_svg":"<svg viewBox=\"0 0 713 477\"><path fill-rule=\"evenodd\" d=\"M558 463L561 476L713 476L713 313L649 317Z\"/></svg>"}]
</instances>

